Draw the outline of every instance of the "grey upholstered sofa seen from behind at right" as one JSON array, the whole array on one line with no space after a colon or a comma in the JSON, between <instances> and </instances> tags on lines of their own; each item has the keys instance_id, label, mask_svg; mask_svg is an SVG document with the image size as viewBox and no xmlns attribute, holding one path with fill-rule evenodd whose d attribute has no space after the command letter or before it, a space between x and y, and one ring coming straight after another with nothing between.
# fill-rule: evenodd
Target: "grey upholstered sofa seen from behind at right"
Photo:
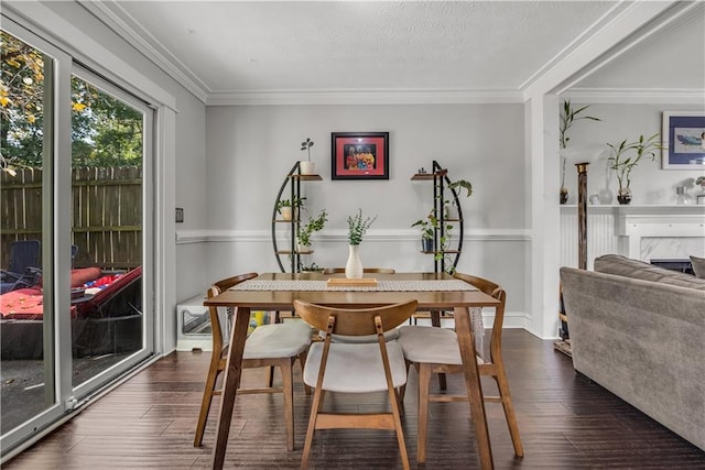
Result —
<instances>
[{"instance_id":1,"label":"grey upholstered sofa seen from behind at right","mask_svg":"<svg viewBox=\"0 0 705 470\"><path fill-rule=\"evenodd\" d=\"M608 254L561 281L575 370L705 450L705 280Z\"/></svg>"}]
</instances>

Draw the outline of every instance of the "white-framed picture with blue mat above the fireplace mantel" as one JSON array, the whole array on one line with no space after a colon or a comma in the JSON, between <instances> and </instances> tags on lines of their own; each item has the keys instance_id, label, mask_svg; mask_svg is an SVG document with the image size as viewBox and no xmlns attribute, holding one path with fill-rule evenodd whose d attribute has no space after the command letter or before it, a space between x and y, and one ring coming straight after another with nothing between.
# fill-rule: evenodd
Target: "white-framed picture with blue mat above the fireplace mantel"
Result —
<instances>
[{"instance_id":1,"label":"white-framed picture with blue mat above the fireplace mantel","mask_svg":"<svg viewBox=\"0 0 705 470\"><path fill-rule=\"evenodd\" d=\"M705 113L663 111L662 167L705 168Z\"/></svg>"}]
</instances>

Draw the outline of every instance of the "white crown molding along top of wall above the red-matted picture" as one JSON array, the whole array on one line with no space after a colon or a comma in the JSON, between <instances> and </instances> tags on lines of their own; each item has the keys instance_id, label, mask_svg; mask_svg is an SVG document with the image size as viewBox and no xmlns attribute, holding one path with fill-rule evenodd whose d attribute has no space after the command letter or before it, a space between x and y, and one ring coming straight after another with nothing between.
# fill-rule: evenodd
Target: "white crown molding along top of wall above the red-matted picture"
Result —
<instances>
[{"instance_id":1,"label":"white crown molding along top of wall above the red-matted picture","mask_svg":"<svg viewBox=\"0 0 705 470\"><path fill-rule=\"evenodd\" d=\"M206 106L519 103L513 89L328 89L212 92Z\"/></svg>"}]
</instances>

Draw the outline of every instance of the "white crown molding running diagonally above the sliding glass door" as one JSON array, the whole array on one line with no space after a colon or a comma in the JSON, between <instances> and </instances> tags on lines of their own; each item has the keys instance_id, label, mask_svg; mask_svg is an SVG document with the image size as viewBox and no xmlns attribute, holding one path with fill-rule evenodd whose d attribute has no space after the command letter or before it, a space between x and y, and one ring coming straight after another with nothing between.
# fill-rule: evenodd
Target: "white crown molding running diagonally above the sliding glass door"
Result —
<instances>
[{"instance_id":1,"label":"white crown molding running diagonally above the sliding glass door","mask_svg":"<svg viewBox=\"0 0 705 470\"><path fill-rule=\"evenodd\" d=\"M202 102L206 102L208 92L205 84L149 31L134 21L117 1L87 0L80 4ZM145 37L149 37L149 41Z\"/></svg>"}]
</instances>

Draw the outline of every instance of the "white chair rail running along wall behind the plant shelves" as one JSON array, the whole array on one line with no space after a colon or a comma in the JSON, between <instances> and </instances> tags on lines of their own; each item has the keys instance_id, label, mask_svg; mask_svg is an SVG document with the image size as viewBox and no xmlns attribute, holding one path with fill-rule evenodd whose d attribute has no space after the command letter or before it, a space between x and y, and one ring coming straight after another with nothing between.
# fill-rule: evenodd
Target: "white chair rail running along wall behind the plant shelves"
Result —
<instances>
[{"instance_id":1,"label":"white chair rail running along wall behind the plant shelves","mask_svg":"<svg viewBox=\"0 0 705 470\"><path fill-rule=\"evenodd\" d=\"M176 231L176 244L209 242L254 242L271 243L269 230L180 230ZM313 237L314 241L339 243L347 241L347 230L324 230ZM527 229L476 229L466 230L464 241L507 242L531 241L531 232ZM366 242L399 243L417 242L417 230L370 230L365 236Z\"/></svg>"}]
</instances>

